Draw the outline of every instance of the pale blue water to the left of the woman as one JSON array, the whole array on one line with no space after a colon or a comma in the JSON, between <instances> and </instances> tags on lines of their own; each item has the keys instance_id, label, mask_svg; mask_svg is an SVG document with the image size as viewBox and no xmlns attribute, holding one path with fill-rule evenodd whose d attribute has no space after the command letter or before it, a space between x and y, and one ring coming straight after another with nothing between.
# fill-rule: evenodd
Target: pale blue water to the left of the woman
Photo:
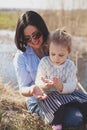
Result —
<instances>
[{"instance_id":1,"label":"pale blue water to the left of the woman","mask_svg":"<svg viewBox=\"0 0 87 130\"><path fill-rule=\"evenodd\" d=\"M14 43L14 31L0 30L0 76L3 82L11 82L12 86L17 85L15 70L13 67L13 57L16 53Z\"/></svg>"}]
</instances>

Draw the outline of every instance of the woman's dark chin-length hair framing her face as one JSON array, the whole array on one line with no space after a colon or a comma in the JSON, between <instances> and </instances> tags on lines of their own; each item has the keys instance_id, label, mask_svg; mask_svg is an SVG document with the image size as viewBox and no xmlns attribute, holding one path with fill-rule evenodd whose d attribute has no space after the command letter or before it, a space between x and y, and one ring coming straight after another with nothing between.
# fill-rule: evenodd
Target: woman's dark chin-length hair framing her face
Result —
<instances>
[{"instance_id":1,"label":"woman's dark chin-length hair framing her face","mask_svg":"<svg viewBox=\"0 0 87 130\"><path fill-rule=\"evenodd\" d=\"M25 12L18 19L16 33L15 33L15 44L17 48L23 52L26 50L26 43L24 42L24 29L28 25L33 25L39 31L41 31L43 35L43 43L46 43L48 35L49 35L48 28L44 20L38 13L34 11Z\"/></svg>"}]
</instances>

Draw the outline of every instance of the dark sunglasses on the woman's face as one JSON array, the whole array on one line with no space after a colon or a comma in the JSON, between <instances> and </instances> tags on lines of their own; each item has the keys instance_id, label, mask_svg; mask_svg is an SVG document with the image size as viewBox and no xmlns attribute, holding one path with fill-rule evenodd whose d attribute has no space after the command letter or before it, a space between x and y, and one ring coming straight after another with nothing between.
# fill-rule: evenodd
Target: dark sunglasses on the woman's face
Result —
<instances>
[{"instance_id":1,"label":"dark sunglasses on the woman's face","mask_svg":"<svg viewBox=\"0 0 87 130\"><path fill-rule=\"evenodd\" d=\"M32 39L33 39L33 40L38 40L38 39L41 37L41 35L42 35L42 33L39 32L39 31L34 32L31 37L30 37L30 36L25 37L25 38L24 38L24 41L25 41L26 43L29 43L29 42L32 41Z\"/></svg>"}]
</instances>

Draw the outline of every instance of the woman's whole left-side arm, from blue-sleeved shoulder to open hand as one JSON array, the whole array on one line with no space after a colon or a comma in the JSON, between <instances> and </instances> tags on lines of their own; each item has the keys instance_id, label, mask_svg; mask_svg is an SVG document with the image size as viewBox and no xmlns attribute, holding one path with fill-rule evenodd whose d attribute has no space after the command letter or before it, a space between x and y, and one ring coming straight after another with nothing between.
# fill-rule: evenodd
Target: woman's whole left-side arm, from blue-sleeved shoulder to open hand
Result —
<instances>
[{"instance_id":1,"label":"woman's whole left-side arm, from blue-sleeved shoulder to open hand","mask_svg":"<svg viewBox=\"0 0 87 130\"><path fill-rule=\"evenodd\" d=\"M45 99L44 92L34 84L29 70L26 68L26 60L23 54L14 58L14 67L18 79L19 91L23 96L35 96L38 99Z\"/></svg>"}]
</instances>

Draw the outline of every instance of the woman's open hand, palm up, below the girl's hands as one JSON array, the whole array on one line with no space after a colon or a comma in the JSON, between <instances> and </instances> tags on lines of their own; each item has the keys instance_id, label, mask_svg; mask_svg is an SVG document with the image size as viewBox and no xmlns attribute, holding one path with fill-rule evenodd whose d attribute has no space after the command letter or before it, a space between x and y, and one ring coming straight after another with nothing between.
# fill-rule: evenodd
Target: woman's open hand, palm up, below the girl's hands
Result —
<instances>
[{"instance_id":1,"label":"woman's open hand, palm up, below the girl's hands","mask_svg":"<svg viewBox=\"0 0 87 130\"><path fill-rule=\"evenodd\" d=\"M44 100L47 98L47 95L44 93L44 91L38 87L38 86L35 86L33 88L33 96L35 96L37 99L40 99L40 100Z\"/></svg>"}]
</instances>

